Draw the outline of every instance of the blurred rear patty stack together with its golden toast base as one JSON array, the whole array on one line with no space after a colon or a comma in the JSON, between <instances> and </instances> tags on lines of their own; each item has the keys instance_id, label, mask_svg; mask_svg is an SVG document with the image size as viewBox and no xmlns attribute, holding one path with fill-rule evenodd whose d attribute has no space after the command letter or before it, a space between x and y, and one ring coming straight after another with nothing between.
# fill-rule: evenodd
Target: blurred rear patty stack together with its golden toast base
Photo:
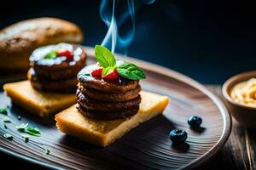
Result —
<instances>
[{"instance_id":1,"label":"blurred rear patty stack together with its golden toast base","mask_svg":"<svg viewBox=\"0 0 256 170\"><path fill-rule=\"evenodd\" d=\"M49 116L75 103L77 74L85 59L79 45L60 43L37 48L29 59L28 81L7 83L3 89L27 111Z\"/></svg>"}]
</instances>

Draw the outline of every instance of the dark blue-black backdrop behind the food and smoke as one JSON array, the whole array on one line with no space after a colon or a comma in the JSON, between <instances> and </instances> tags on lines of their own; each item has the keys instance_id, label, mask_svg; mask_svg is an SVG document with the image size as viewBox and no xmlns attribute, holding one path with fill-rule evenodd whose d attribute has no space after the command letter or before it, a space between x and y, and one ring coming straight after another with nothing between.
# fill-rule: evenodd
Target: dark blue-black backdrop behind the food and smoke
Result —
<instances>
[{"instance_id":1,"label":"dark blue-black backdrop behind the food and smoke","mask_svg":"<svg viewBox=\"0 0 256 170\"><path fill-rule=\"evenodd\" d=\"M19 20L54 16L85 32L84 45L101 43L107 26L100 1L37 0L1 4L0 28ZM119 0L119 3L126 3ZM136 5L140 1L136 1ZM249 1L156 0L136 13L136 34L128 55L180 71L202 83L222 83L255 69L255 8Z\"/></svg>"}]
</instances>

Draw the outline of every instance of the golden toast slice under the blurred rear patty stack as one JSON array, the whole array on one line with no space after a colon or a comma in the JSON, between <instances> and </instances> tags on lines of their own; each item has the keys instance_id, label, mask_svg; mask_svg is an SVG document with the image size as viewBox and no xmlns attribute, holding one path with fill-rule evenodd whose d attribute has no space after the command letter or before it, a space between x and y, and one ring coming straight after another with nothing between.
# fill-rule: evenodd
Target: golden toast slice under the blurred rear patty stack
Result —
<instances>
[{"instance_id":1,"label":"golden toast slice under the blurred rear patty stack","mask_svg":"<svg viewBox=\"0 0 256 170\"><path fill-rule=\"evenodd\" d=\"M39 92L29 81L7 83L3 89L15 104L37 116L49 116L76 103L75 94Z\"/></svg>"}]
</instances>

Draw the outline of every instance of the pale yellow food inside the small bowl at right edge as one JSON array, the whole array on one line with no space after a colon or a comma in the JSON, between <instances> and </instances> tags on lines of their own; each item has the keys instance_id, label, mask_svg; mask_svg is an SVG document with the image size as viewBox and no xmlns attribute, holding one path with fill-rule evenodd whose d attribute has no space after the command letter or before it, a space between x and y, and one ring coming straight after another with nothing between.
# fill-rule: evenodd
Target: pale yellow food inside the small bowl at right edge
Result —
<instances>
[{"instance_id":1,"label":"pale yellow food inside the small bowl at right edge","mask_svg":"<svg viewBox=\"0 0 256 170\"><path fill-rule=\"evenodd\" d=\"M231 89L230 97L241 105L256 108L256 78L237 83Z\"/></svg>"}]
</instances>

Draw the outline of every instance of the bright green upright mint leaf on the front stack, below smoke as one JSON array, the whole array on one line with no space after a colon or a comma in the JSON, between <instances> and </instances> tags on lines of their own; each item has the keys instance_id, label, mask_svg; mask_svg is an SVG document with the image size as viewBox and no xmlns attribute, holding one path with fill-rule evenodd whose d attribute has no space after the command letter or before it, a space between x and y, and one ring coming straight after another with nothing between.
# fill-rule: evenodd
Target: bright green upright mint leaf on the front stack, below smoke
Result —
<instances>
[{"instance_id":1,"label":"bright green upright mint leaf on the front stack, below smoke","mask_svg":"<svg viewBox=\"0 0 256 170\"><path fill-rule=\"evenodd\" d=\"M111 51L101 45L96 45L94 48L96 59L103 68L114 67L116 60L113 57Z\"/></svg>"}]
</instances>

